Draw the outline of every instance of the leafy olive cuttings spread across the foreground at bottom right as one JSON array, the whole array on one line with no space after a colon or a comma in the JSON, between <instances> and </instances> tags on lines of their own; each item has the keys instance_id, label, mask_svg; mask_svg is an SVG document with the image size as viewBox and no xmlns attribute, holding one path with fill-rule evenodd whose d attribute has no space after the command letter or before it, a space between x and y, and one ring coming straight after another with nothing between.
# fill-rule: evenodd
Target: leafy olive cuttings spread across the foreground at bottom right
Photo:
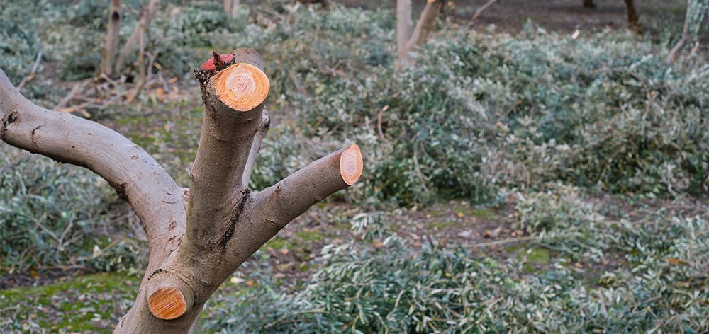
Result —
<instances>
[{"instance_id":1,"label":"leafy olive cuttings spread across the foreground at bottom right","mask_svg":"<svg viewBox=\"0 0 709 334\"><path fill-rule=\"evenodd\" d=\"M542 212L520 216L553 230L557 242L563 233L573 236L585 228L576 221L588 219L566 207L583 199L574 190L549 194L557 198L549 207L545 195L524 195L528 205ZM608 220L597 213L591 216L594 221ZM373 235L379 238L386 224L386 216L362 214L353 227L368 240ZM607 248L623 252L621 257L630 261L614 263L603 275L599 272L598 282L588 272L598 270L592 264L596 254L572 247L569 251L577 252L586 264L584 270L560 257L537 272L528 272L517 258L496 260L454 245L441 247L435 241L417 249L396 234L376 247L362 241L330 245L318 258L323 267L306 281L278 287L270 275L261 273L255 276L265 278L255 289L240 296L219 296L204 329L220 333L707 330L709 221L660 211L657 217L632 222L632 229L630 224L621 225L593 229L598 240L607 241ZM650 225L659 227L653 230ZM534 247L538 246L525 250ZM564 254L569 253L559 253Z\"/></svg>"}]
</instances>

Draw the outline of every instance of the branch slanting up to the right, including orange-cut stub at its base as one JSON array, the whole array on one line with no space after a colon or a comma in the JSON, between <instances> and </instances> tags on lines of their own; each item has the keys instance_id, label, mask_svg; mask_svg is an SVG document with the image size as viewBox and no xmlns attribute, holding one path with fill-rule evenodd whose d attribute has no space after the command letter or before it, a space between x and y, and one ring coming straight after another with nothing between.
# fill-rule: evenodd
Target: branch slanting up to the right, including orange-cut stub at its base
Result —
<instances>
[{"instance_id":1,"label":"branch slanting up to the right, including orange-cut stub at its base","mask_svg":"<svg viewBox=\"0 0 709 334\"><path fill-rule=\"evenodd\" d=\"M242 200L232 208L232 229L225 243L212 244L211 253L203 256L189 253L181 245L164 269L151 277L146 294L150 311L179 323L199 316L201 305L219 284L266 241L312 205L357 182L360 175L362 154L359 146L352 144L257 195L242 192Z\"/></svg>"}]
</instances>

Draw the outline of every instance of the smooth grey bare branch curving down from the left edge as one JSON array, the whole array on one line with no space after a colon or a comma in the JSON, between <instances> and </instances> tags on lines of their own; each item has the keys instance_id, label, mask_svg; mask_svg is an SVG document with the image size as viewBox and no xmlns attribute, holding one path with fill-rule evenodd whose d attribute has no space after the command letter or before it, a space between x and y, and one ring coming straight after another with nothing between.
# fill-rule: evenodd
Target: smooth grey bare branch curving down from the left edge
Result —
<instances>
[{"instance_id":1,"label":"smooth grey bare branch curving down from the left edge","mask_svg":"<svg viewBox=\"0 0 709 334\"><path fill-rule=\"evenodd\" d=\"M4 142L89 168L106 179L138 214L151 249L164 246L172 231L184 230L182 188L147 152L121 134L68 113L40 108L24 98L1 70L0 115Z\"/></svg>"}]
</instances>

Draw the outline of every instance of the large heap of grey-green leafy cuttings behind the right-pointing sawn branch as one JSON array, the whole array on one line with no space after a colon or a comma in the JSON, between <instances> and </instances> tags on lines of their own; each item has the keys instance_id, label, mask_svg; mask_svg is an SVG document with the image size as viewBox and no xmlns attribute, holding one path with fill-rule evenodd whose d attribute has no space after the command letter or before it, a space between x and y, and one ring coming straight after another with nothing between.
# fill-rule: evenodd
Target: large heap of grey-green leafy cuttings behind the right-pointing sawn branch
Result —
<instances>
[{"instance_id":1,"label":"large heap of grey-green leafy cuttings behind the right-pointing sawn branch","mask_svg":"<svg viewBox=\"0 0 709 334\"><path fill-rule=\"evenodd\" d=\"M296 118L286 131L362 143L366 189L354 198L486 201L501 187L556 180L709 192L709 67L697 59L668 65L666 48L625 32L572 39L533 25L517 37L448 27L413 69L394 74L387 15L333 6L240 35L269 59L272 111ZM289 145L279 147L298 151Z\"/></svg>"}]
</instances>

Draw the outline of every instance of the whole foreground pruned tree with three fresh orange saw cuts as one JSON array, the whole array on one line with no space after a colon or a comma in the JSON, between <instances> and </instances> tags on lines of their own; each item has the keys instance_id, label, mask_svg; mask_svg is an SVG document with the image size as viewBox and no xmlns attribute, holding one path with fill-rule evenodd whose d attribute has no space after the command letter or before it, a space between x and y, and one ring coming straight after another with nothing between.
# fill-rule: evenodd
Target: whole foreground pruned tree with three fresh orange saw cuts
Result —
<instances>
[{"instance_id":1,"label":"whole foreground pruned tree with three fresh orange saw cuts","mask_svg":"<svg viewBox=\"0 0 709 334\"><path fill-rule=\"evenodd\" d=\"M289 221L362 174L362 155L352 144L269 188L250 190L270 123L263 59L251 49L215 53L194 73L204 117L187 189L129 139L35 105L0 70L0 140L101 175L145 228L147 270L114 333L189 332L205 302L241 263Z\"/></svg>"}]
</instances>

